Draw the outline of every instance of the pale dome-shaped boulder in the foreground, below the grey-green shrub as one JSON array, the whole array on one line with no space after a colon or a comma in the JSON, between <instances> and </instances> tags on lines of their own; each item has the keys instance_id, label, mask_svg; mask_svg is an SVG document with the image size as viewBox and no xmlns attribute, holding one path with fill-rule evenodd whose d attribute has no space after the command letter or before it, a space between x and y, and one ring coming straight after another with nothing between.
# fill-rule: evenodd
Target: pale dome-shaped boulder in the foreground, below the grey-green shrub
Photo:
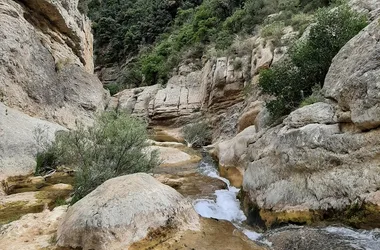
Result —
<instances>
[{"instance_id":1,"label":"pale dome-shaped boulder in the foreground, below the grey-green shrub","mask_svg":"<svg viewBox=\"0 0 380 250\"><path fill-rule=\"evenodd\" d=\"M199 230L192 205L147 174L106 181L70 207L58 228L58 245L126 249L155 230Z\"/></svg>"}]
</instances>

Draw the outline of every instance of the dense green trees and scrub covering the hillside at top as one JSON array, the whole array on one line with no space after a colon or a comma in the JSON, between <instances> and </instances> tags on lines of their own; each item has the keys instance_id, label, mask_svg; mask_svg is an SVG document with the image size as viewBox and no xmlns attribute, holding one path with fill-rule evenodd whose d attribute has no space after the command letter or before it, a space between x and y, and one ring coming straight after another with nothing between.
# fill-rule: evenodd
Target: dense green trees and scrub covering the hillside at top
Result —
<instances>
[{"instance_id":1,"label":"dense green trees and scrub covering the hillside at top","mask_svg":"<svg viewBox=\"0 0 380 250\"><path fill-rule=\"evenodd\" d=\"M112 87L165 83L187 58L201 58L208 45L227 49L236 35L251 36L271 22L305 27L304 13L330 0L84 0L94 23L98 65L123 65ZM85 5L82 2L82 6ZM85 9L85 7L82 7Z\"/></svg>"}]
</instances>

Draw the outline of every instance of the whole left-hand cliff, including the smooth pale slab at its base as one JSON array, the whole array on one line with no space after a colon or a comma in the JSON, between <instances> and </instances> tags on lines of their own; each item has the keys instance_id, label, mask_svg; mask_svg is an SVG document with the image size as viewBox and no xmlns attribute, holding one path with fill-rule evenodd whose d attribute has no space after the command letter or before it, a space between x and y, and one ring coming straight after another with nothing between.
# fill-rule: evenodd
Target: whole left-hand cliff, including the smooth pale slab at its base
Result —
<instances>
[{"instance_id":1,"label":"whole left-hand cliff, including the smooth pale slab at its base","mask_svg":"<svg viewBox=\"0 0 380 250\"><path fill-rule=\"evenodd\" d=\"M77 4L0 2L0 180L35 167L36 137L51 141L55 131L91 123L103 110L91 26Z\"/></svg>"}]
</instances>

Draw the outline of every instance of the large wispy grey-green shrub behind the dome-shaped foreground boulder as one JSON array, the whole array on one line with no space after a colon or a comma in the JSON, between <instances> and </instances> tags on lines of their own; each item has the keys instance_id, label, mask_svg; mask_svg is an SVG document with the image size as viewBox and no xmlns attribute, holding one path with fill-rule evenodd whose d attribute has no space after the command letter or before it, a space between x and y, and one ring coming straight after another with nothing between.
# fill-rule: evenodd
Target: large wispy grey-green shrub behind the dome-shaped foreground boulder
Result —
<instances>
[{"instance_id":1,"label":"large wispy grey-green shrub behind the dome-shaped foreground boulder","mask_svg":"<svg viewBox=\"0 0 380 250\"><path fill-rule=\"evenodd\" d=\"M147 153L147 139L144 123L128 115L107 112L92 127L78 126L58 134L50 152L54 152L59 164L76 170L76 202L108 179L157 166L157 152Z\"/></svg>"}]
</instances>

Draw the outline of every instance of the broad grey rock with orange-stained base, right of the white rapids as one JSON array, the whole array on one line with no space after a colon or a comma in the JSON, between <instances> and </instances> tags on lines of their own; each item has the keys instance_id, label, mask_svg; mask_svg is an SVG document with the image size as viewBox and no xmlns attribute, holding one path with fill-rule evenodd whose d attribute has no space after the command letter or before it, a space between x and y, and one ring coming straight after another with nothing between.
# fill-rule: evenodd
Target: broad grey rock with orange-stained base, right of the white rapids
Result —
<instances>
[{"instance_id":1,"label":"broad grey rock with orange-stained base, right of the white rapids","mask_svg":"<svg viewBox=\"0 0 380 250\"><path fill-rule=\"evenodd\" d=\"M259 207L259 216L271 226L328 219L331 211L366 203L380 187L379 135L379 130L343 133L339 124L296 129L279 125L258 133L249 142L243 188L251 205L246 209ZM343 221L363 227L380 225L368 213L362 215L359 220L347 215Z\"/></svg>"}]
</instances>

